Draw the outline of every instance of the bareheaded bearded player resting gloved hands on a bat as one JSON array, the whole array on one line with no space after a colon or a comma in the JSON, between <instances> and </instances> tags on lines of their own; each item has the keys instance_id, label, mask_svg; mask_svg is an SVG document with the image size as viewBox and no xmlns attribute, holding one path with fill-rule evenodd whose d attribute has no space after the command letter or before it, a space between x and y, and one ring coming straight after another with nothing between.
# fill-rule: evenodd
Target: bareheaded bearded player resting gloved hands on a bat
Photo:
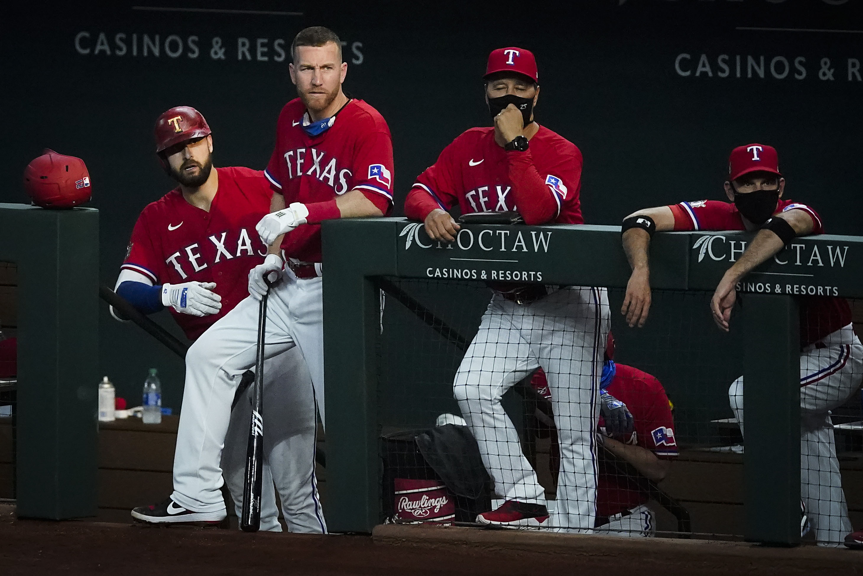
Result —
<instances>
[{"instance_id":1,"label":"bareheaded bearded player resting gloved hands on a bat","mask_svg":"<svg viewBox=\"0 0 863 576\"><path fill-rule=\"evenodd\" d=\"M264 276L278 277L269 294L266 358L299 348L313 383L289 375L278 387L286 402L305 404L310 399L307 422L314 422L316 405L325 421L320 223L381 216L392 206L389 129L374 108L342 91L347 64L338 36L327 28L306 28L294 38L291 54L291 79L299 98L281 111L266 170L275 191L271 213L256 226L268 256L249 272L252 295L211 326L186 355L186 394L170 501L213 517L225 514L218 490L219 454L236 385L255 364ZM270 406L265 394L265 412ZM265 443L273 419L267 422ZM289 466L276 465L266 444L265 457L286 516L290 512L302 522L297 531L325 533L315 478L315 431L309 426L281 443L293 454Z\"/></svg>"}]
</instances>

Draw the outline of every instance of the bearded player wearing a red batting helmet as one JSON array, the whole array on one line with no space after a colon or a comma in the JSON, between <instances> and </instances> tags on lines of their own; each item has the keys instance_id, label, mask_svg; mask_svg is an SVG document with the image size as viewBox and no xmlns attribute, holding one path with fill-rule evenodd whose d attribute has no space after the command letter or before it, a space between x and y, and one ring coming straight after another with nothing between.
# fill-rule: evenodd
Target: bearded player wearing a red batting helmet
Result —
<instances>
[{"instance_id":1,"label":"bearded player wearing a red batting helmet","mask_svg":"<svg viewBox=\"0 0 863 576\"><path fill-rule=\"evenodd\" d=\"M263 262L267 250L257 237L255 225L269 212L272 192L260 171L213 168L210 127L190 106L177 106L161 114L156 120L155 139L162 166L180 186L144 208L135 223L115 289L143 313L170 307L186 336L195 340L249 295L249 269ZM307 373L299 356L272 361L267 368L268 392L273 382L289 372ZM308 406L313 410L312 402ZM273 411L280 415L280 421L308 417L308 409L287 402L276 403ZM249 402L238 402L231 413L222 459L238 513L249 415ZM289 428L277 428L269 430L269 440L289 435ZM263 486L261 528L280 531L269 465L265 465ZM158 521L161 518L153 516L157 509L161 507L144 507L133 511L132 516ZM191 521L188 514L168 517Z\"/></svg>"}]
</instances>

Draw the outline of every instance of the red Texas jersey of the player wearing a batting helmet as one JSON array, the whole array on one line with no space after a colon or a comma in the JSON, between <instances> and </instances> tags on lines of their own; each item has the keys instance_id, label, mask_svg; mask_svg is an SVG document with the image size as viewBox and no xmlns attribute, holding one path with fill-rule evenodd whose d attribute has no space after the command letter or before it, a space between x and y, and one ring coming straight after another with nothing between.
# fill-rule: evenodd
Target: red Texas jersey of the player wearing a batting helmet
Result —
<instances>
[{"instance_id":1,"label":"red Texas jersey of the player wearing a batting helmet","mask_svg":"<svg viewBox=\"0 0 863 576\"><path fill-rule=\"evenodd\" d=\"M268 180L249 168L213 169L218 190L210 212L189 204L179 187L148 204L121 267L154 285L216 282L215 292L222 297L218 313L198 317L171 309L192 340L249 295L249 269L267 254L255 225L269 212Z\"/></svg>"}]
</instances>

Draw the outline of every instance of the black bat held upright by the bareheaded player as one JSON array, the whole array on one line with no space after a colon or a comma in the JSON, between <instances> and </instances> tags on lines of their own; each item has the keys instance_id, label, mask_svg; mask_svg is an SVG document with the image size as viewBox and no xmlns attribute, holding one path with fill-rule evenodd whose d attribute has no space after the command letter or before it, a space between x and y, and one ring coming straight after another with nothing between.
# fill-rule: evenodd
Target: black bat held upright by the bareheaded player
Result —
<instances>
[{"instance_id":1,"label":"black bat held upright by the bareheaded player","mask_svg":"<svg viewBox=\"0 0 863 576\"><path fill-rule=\"evenodd\" d=\"M265 276L267 292L258 308L258 350L255 383L252 384L252 417L249 419L249 446L246 448L246 483L243 485L243 517L240 528L257 532L261 528L261 472L264 464L264 340L267 332L267 300L272 284Z\"/></svg>"}]
</instances>

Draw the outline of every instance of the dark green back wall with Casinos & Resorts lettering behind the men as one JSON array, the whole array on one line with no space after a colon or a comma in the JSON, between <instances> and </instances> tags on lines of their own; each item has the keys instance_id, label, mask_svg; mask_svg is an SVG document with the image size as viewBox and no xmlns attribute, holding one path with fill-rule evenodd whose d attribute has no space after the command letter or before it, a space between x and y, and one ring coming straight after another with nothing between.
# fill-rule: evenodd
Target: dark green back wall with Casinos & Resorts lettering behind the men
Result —
<instances>
[{"instance_id":1,"label":"dark green back wall with Casinos & Resorts lettering behind the men","mask_svg":"<svg viewBox=\"0 0 863 576\"><path fill-rule=\"evenodd\" d=\"M113 285L137 214L172 187L154 158L154 118L196 106L218 164L263 168L293 98L287 45L300 28L325 25L346 42L347 90L393 132L396 212L446 143L488 122L486 55L518 45L539 60L539 122L583 151L589 223L719 198L729 149L759 141L779 149L788 193L816 206L829 231L861 232L858 2L558 4L138 0L7 15L0 201L26 201L22 169L42 148L84 158L101 211L102 279ZM195 7L270 14L176 10ZM173 329L167 314L159 320ZM179 407L180 360L104 310L100 326L100 366L120 393L136 397L154 365L166 404Z\"/></svg>"}]
</instances>

